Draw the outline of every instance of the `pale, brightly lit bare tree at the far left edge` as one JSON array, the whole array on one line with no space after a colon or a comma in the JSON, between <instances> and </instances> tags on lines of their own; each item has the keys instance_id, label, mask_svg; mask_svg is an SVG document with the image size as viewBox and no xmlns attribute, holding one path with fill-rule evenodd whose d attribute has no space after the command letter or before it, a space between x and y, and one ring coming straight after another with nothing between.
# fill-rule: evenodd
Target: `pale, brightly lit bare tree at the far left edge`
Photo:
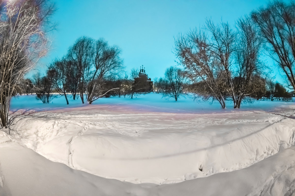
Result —
<instances>
[{"instance_id":1,"label":"pale, brightly lit bare tree at the far left edge","mask_svg":"<svg viewBox=\"0 0 295 196\"><path fill-rule=\"evenodd\" d=\"M19 80L45 55L50 1L8 1L0 17L0 120L8 126L9 100ZM52 26L51 26L52 27Z\"/></svg>"}]
</instances>

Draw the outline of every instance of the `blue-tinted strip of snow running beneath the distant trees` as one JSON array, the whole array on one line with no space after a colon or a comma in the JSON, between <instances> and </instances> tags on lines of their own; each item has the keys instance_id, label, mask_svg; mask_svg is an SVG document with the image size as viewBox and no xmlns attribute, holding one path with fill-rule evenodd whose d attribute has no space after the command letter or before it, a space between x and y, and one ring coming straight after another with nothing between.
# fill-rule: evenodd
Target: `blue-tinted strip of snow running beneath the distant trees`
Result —
<instances>
[{"instance_id":1,"label":"blue-tinted strip of snow running beneath the distant trees","mask_svg":"<svg viewBox=\"0 0 295 196\"><path fill-rule=\"evenodd\" d=\"M69 105L66 104L65 98L63 96L57 96L58 98L53 99L50 104L43 104L41 101L35 99L35 95L24 95L24 96L15 96L11 100L11 110L36 110L36 111L44 111L51 109L68 109L72 107L81 107L83 109L85 105L82 104L80 97L78 100L73 100L69 98ZM69 96L68 96L69 97ZM176 102L175 99L170 98L167 99L163 97L162 94L140 94L134 95L133 99L130 97L124 98L119 97L109 97L109 98L100 98L93 102L92 105L106 105L106 107L116 107L118 106L126 106L128 111L142 111L142 112L167 112L167 113L215 113L215 112L230 112L236 111L237 109L233 109L232 102L226 101L227 109L222 110L220 104L217 101L208 101L204 102L202 99L191 99L190 95L185 97L179 97ZM284 106L292 105L292 102L281 102L281 101L256 101L252 100L252 103L242 103L242 106L239 110L248 111L260 109L264 111L273 111L274 109L281 108ZM90 107L91 108L91 107Z\"/></svg>"}]
</instances>

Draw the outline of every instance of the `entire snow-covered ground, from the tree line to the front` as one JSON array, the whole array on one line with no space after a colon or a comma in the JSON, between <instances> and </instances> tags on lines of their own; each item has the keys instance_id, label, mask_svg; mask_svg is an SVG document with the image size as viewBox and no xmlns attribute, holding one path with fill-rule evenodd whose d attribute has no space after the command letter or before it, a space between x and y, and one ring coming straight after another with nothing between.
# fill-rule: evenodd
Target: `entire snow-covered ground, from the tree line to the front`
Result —
<instances>
[{"instance_id":1,"label":"entire snow-covered ground, from the tree line to the front","mask_svg":"<svg viewBox=\"0 0 295 196\"><path fill-rule=\"evenodd\" d=\"M91 105L66 105L64 97L42 104L28 95L13 98L11 111L11 135L0 132L0 195L295 191L292 102L253 101L241 109L227 102L222 110L217 102L160 94Z\"/></svg>"}]
</instances>

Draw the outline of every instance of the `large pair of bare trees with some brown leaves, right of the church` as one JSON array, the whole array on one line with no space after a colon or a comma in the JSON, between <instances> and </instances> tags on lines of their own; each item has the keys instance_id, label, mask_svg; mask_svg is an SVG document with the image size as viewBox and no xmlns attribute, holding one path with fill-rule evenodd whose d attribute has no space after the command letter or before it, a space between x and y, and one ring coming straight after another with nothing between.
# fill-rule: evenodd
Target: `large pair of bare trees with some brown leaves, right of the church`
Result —
<instances>
[{"instance_id":1,"label":"large pair of bare trees with some brown leaves, right of the church","mask_svg":"<svg viewBox=\"0 0 295 196\"><path fill-rule=\"evenodd\" d=\"M258 72L260 42L250 19L240 19L237 31L228 23L216 25L207 20L204 28L181 35L175 42L176 54L191 81L203 81L207 95L222 108L225 97L233 100L234 108L240 108L242 99L250 95L251 77Z\"/></svg>"}]
</instances>

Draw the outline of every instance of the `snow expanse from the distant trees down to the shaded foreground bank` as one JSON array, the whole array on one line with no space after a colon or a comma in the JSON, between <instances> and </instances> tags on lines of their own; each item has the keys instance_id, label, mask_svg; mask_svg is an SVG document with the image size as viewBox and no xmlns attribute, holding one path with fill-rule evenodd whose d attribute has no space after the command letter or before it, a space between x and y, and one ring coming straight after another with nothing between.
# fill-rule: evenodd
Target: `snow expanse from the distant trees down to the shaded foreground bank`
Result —
<instances>
[{"instance_id":1,"label":"snow expanse from the distant trees down to the shaded foreground bank","mask_svg":"<svg viewBox=\"0 0 295 196\"><path fill-rule=\"evenodd\" d=\"M12 100L13 136L22 144L71 168L135 183L240 170L295 142L295 107L284 102L253 102L240 110L158 94L102 98L83 107L81 100L64 105L62 97L34 102L30 96ZM18 117L25 108L47 111Z\"/></svg>"}]
</instances>

